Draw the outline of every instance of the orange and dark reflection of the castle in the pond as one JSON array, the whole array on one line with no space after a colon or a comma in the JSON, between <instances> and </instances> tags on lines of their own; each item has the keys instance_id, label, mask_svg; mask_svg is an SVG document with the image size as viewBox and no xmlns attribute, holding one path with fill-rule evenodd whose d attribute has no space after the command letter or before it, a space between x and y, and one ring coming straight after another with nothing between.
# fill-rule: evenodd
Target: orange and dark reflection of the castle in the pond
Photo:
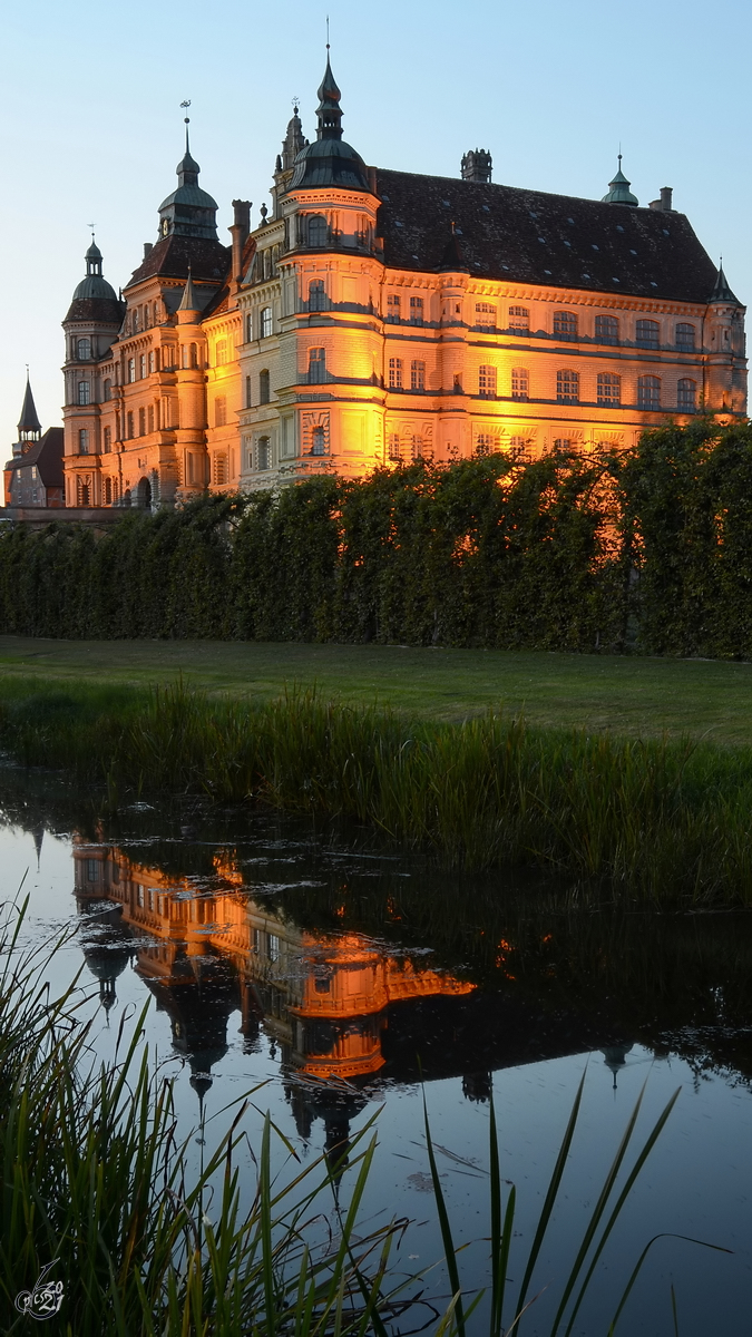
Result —
<instances>
[{"instance_id":1,"label":"orange and dark reflection of the castle in the pond","mask_svg":"<svg viewBox=\"0 0 752 1337\"><path fill-rule=\"evenodd\" d=\"M363 1103L359 1087L415 1082L423 1071L428 1079L462 1076L466 1096L483 1100L495 1068L603 1043L571 1017L535 1013L529 1003L490 1005L472 984L419 968L384 943L298 928L253 898L230 853L215 856L209 892L116 846L79 841L74 860L79 909L96 912L84 951L104 1005L132 959L170 1017L199 1095L227 1051L227 1020L240 1007L246 1048L257 1048L264 1031L280 1051L302 1136L316 1116L328 1143L347 1136Z\"/></svg>"}]
</instances>

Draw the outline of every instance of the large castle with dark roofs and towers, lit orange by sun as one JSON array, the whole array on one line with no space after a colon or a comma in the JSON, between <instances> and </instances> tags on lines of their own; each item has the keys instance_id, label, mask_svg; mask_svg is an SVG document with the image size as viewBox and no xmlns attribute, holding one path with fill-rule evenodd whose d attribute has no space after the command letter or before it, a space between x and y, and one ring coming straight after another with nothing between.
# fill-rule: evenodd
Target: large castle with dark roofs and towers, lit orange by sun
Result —
<instances>
[{"instance_id":1,"label":"large castle with dark roofs and towers, lit orange by sun","mask_svg":"<svg viewBox=\"0 0 752 1337\"><path fill-rule=\"evenodd\" d=\"M68 507L158 507L419 456L629 447L747 410L744 308L665 187L640 207L368 167L329 60L272 209L231 245L189 147L118 297L96 245L63 322ZM620 155L621 159L621 155Z\"/></svg>"}]
</instances>

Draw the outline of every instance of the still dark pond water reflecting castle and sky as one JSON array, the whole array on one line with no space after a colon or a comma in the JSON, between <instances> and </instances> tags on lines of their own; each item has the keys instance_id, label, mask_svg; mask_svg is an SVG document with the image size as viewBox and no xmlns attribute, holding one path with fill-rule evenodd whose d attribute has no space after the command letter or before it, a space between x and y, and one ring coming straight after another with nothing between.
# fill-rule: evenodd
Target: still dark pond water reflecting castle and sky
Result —
<instances>
[{"instance_id":1,"label":"still dark pond water reflecting castle and sky","mask_svg":"<svg viewBox=\"0 0 752 1337\"><path fill-rule=\"evenodd\" d=\"M658 1241L618 1332L673 1333L673 1284L682 1337L752 1334L748 916L617 915L541 881L440 874L363 833L195 802L136 804L107 822L94 800L54 779L29 789L13 770L0 806L4 897L21 882L31 897L25 941L75 928L51 975L63 988L83 967L102 1055L150 999L149 1039L198 1139L250 1088L250 1142L269 1110L302 1162L341 1155L380 1111L361 1221L408 1218L400 1274L442 1257L423 1092L455 1242L470 1245L468 1290L487 1282L494 1094L502 1174L518 1190L514 1290L586 1072L530 1337L550 1328L641 1088L636 1146L681 1088L574 1332L605 1334L642 1247L665 1231L733 1253ZM249 1159L249 1191L253 1174ZM395 1333L447 1302L442 1267L421 1288Z\"/></svg>"}]
</instances>

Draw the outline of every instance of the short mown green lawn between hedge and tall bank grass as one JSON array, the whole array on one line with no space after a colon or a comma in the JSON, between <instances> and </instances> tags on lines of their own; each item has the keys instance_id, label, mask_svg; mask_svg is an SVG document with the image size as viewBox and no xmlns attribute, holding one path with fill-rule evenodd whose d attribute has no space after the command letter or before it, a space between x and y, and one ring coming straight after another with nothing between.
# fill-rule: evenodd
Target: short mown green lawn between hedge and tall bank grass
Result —
<instances>
[{"instance_id":1,"label":"short mown green lawn between hedge and tall bank grass","mask_svg":"<svg viewBox=\"0 0 752 1337\"><path fill-rule=\"evenodd\" d=\"M496 650L0 636L0 674L155 683L269 699L293 683L436 719L488 706L530 723L752 743L752 664Z\"/></svg>"}]
</instances>

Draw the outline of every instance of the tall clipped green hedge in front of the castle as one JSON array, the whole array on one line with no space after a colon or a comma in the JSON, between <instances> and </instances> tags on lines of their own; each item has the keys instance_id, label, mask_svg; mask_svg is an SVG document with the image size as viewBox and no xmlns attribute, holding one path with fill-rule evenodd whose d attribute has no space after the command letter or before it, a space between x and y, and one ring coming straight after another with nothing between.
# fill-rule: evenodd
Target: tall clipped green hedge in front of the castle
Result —
<instances>
[{"instance_id":1,"label":"tall clipped green hedge in front of the castle","mask_svg":"<svg viewBox=\"0 0 752 1337\"><path fill-rule=\"evenodd\" d=\"M502 455L0 533L0 626L36 636L752 655L752 428Z\"/></svg>"}]
</instances>

